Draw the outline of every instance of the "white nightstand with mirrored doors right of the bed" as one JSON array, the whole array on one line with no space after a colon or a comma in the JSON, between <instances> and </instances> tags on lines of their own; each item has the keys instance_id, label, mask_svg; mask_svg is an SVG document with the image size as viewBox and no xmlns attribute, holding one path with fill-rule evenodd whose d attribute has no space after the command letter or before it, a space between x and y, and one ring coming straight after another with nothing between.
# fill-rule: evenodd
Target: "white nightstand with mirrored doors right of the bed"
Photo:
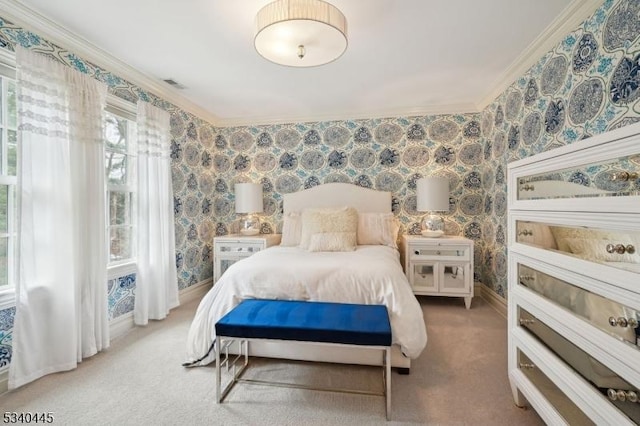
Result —
<instances>
[{"instance_id":1,"label":"white nightstand with mirrored doors right of the bed","mask_svg":"<svg viewBox=\"0 0 640 426\"><path fill-rule=\"evenodd\" d=\"M473 241L463 237L403 236L404 267L413 293L473 298Z\"/></svg>"}]
</instances>

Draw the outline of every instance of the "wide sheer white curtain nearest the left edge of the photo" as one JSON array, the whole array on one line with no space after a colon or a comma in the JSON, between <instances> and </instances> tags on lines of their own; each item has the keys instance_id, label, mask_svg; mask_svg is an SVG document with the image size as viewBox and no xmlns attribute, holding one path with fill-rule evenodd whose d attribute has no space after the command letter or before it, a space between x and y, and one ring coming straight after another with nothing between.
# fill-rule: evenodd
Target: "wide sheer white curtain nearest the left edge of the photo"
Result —
<instances>
[{"instance_id":1,"label":"wide sheer white curtain nearest the left edge of the photo","mask_svg":"<svg viewBox=\"0 0 640 426\"><path fill-rule=\"evenodd\" d=\"M106 86L20 47L19 265L9 387L109 345Z\"/></svg>"}]
</instances>

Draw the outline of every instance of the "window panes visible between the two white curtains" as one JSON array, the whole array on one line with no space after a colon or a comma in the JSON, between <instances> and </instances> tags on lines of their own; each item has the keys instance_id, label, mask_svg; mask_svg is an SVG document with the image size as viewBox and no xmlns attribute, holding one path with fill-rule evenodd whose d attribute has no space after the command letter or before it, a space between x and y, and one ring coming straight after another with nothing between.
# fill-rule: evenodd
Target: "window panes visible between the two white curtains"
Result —
<instances>
[{"instance_id":1,"label":"window panes visible between the two white curtains","mask_svg":"<svg viewBox=\"0 0 640 426\"><path fill-rule=\"evenodd\" d=\"M128 115L128 114L126 114ZM109 264L135 259L134 153L136 123L115 108L107 107L105 122L105 168L107 181L107 241Z\"/></svg>"}]
</instances>

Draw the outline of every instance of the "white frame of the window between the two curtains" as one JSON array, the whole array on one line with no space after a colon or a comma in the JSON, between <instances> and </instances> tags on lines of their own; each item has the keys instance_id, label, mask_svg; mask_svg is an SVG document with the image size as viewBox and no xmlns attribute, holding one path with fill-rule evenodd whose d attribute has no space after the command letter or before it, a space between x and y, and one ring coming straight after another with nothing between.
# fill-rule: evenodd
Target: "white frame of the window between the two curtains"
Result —
<instances>
[{"instance_id":1,"label":"white frame of the window between the two curtains","mask_svg":"<svg viewBox=\"0 0 640 426\"><path fill-rule=\"evenodd\" d=\"M125 118L129 121L131 121L132 123L136 124L136 106L135 104L132 104L130 102L127 102L121 98L118 98L117 96L114 95L108 95L107 97L107 108L106 108L107 112L116 115L120 118ZM128 185L110 185L107 182L107 188L106 188L106 192L105 192L105 196L106 196L106 238L107 238L107 254L109 255L109 258L111 257L111 247L110 247L110 240L111 240L111 226L110 226L110 217L109 217L109 191L121 191L121 192L129 192L129 193L134 193L134 197L135 197L135 193L137 192L137 188L136 188L136 176L137 176L137 171L136 171L136 167L135 167L135 160L136 160L136 152L135 152L135 146L136 146L136 139L137 139L137 134L135 133L135 131L131 128L129 128L129 135L127 135L128 141L132 142L128 145L128 153L127 155L129 156L129 159L132 160L128 163L128 165L131 165L132 167L134 167L133 171L132 171L132 179L129 180ZM105 170L106 172L106 170ZM135 200L135 198L134 198ZM134 202L132 205L132 217L131 217L131 225L132 225L132 257L128 258L128 259L124 259L124 260L118 260L118 261L114 261L112 262L111 260L109 260L109 263L107 264L107 278L109 280L114 279L114 278L118 278L118 277L122 277L125 275L129 275L129 274L134 274L137 271L136 268L136 244L135 244L135 229L138 226L138 224L136 223L136 203Z\"/></svg>"}]
</instances>

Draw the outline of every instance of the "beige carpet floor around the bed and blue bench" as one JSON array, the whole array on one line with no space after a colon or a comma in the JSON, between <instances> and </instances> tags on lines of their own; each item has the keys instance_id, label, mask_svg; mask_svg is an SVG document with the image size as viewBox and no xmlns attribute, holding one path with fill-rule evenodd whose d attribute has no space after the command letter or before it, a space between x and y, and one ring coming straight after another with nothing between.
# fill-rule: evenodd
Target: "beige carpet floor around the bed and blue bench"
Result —
<instances>
[{"instance_id":1,"label":"beige carpet floor around the bed and blue bench","mask_svg":"<svg viewBox=\"0 0 640 426\"><path fill-rule=\"evenodd\" d=\"M0 396L2 412L51 412L58 425L541 425L513 404L507 379L506 320L481 298L420 298L429 342L411 374L392 373L384 398L237 385L216 405L212 367L185 369L195 303L137 328L76 370ZM375 367L256 359L247 377L382 389Z\"/></svg>"}]
</instances>

